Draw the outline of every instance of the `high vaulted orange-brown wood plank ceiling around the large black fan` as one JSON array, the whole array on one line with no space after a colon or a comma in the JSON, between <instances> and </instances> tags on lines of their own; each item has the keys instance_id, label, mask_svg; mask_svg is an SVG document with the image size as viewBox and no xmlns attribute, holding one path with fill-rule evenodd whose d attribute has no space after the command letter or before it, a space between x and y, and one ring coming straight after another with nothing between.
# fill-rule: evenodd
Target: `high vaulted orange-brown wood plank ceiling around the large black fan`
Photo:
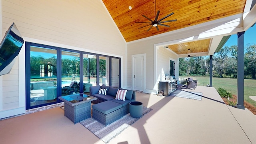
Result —
<instances>
[{"instance_id":1,"label":"high vaulted orange-brown wood plank ceiling around the large black fan","mask_svg":"<svg viewBox=\"0 0 256 144\"><path fill-rule=\"evenodd\" d=\"M159 31L156 27L152 27L147 32L150 24L136 22L150 22L144 16L151 20L155 19L155 0L102 1L126 42L243 13L246 3L246 0L156 0L156 12L160 10L158 20L174 12L173 15L162 21L175 19L177 21L163 23L170 27L158 25ZM129 6L132 7L131 10L129 10ZM182 54L183 52L178 53Z\"/></svg>"}]
</instances>

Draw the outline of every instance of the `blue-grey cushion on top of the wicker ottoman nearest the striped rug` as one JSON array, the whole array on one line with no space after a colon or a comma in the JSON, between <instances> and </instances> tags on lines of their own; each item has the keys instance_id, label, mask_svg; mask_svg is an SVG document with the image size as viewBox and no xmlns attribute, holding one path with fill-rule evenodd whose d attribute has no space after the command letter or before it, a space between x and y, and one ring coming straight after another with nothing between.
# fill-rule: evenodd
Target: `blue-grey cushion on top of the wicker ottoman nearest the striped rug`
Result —
<instances>
[{"instance_id":1,"label":"blue-grey cushion on top of the wicker ottoman nearest the striped rug","mask_svg":"<svg viewBox=\"0 0 256 144\"><path fill-rule=\"evenodd\" d=\"M110 112L114 112L115 110L122 108L122 104L118 104L116 102L108 100L105 102L94 104L92 105L92 108L101 112L102 114L109 114Z\"/></svg>"}]
</instances>

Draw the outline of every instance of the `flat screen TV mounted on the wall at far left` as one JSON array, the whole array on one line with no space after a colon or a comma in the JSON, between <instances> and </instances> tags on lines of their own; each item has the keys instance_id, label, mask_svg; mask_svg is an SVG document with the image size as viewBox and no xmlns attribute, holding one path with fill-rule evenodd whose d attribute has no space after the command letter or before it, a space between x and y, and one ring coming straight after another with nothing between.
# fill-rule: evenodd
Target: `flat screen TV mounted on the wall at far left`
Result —
<instances>
[{"instance_id":1,"label":"flat screen TV mounted on the wall at far left","mask_svg":"<svg viewBox=\"0 0 256 144\"><path fill-rule=\"evenodd\" d=\"M10 73L23 44L18 28L12 23L0 43L0 76Z\"/></svg>"}]
</instances>

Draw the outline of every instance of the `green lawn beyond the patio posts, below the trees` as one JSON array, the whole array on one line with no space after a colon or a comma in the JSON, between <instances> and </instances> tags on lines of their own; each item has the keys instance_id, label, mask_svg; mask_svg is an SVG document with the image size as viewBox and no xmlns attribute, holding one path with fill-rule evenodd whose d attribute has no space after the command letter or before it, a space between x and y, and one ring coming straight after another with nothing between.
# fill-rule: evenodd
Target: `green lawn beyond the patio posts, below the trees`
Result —
<instances>
[{"instance_id":1,"label":"green lawn beyond the patio posts, below the trees","mask_svg":"<svg viewBox=\"0 0 256 144\"><path fill-rule=\"evenodd\" d=\"M180 76L181 78L187 78ZM206 86L210 84L209 77L197 77L191 76L193 80L198 80L198 86ZM249 96L256 96L256 80L244 80L244 100L256 107L256 102L249 98ZM212 78L212 86L218 90L218 88L224 88L228 92L237 95L237 79L234 78Z\"/></svg>"}]
</instances>

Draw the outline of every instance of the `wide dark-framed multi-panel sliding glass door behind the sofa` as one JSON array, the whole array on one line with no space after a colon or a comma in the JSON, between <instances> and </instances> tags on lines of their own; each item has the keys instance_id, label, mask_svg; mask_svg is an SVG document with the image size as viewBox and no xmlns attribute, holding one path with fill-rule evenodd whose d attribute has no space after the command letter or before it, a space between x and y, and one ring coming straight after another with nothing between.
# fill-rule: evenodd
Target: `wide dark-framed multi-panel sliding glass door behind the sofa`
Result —
<instances>
[{"instance_id":1,"label":"wide dark-framed multi-panel sliding glass door behind the sofa","mask_svg":"<svg viewBox=\"0 0 256 144\"><path fill-rule=\"evenodd\" d=\"M26 109L62 102L90 86L120 87L121 58L26 42Z\"/></svg>"}]
</instances>

